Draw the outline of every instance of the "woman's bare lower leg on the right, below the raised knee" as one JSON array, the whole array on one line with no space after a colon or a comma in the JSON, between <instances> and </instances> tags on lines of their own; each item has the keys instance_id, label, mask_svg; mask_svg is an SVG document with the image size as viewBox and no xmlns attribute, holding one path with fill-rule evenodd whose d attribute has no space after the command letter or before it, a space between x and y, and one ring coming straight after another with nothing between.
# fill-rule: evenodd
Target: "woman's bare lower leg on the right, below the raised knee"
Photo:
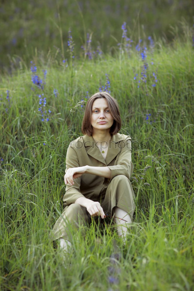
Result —
<instances>
[{"instance_id":1,"label":"woman's bare lower leg on the right, below the raised knee","mask_svg":"<svg viewBox=\"0 0 194 291\"><path fill-rule=\"evenodd\" d=\"M114 217L115 223L117 225L118 235L123 237L123 241L125 243L126 242L127 227L130 227L130 223L132 222L130 215L126 211L122 210L119 207L115 207L114 214L116 217L119 217L121 219L125 219L127 221L127 222L125 222L124 220L121 220L119 218Z\"/></svg>"}]
</instances>

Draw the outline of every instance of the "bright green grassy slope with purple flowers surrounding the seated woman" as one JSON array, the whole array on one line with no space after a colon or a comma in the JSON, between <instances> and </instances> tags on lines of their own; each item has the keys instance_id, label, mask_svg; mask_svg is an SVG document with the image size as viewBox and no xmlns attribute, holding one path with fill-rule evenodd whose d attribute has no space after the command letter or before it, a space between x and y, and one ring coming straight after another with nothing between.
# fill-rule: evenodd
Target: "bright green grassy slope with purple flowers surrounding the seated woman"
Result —
<instances>
[{"instance_id":1,"label":"bright green grassy slope with purple flowers surrounding the seated woman","mask_svg":"<svg viewBox=\"0 0 194 291\"><path fill-rule=\"evenodd\" d=\"M1 290L193 290L192 32L138 45L92 59L35 54L1 76ZM132 229L124 246L110 221L92 220L85 237L72 232L64 261L49 232L63 211L68 144L99 88L132 138Z\"/></svg>"}]
</instances>

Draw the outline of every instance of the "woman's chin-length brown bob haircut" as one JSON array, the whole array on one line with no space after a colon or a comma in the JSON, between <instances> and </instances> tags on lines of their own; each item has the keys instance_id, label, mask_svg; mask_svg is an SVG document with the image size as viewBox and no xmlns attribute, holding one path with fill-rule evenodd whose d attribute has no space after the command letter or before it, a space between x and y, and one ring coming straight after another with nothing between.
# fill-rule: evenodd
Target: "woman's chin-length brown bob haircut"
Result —
<instances>
[{"instance_id":1,"label":"woman's chin-length brown bob haircut","mask_svg":"<svg viewBox=\"0 0 194 291\"><path fill-rule=\"evenodd\" d=\"M116 134L121 129L121 116L119 112L119 105L117 100L114 99L109 93L107 92L97 92L92 95L86 104L86 109L84 112L84 117L82 121L82 133L87 134L89 136L92 135L93 129L91 125L91 115L92 115L92 105L94 100L97 98L105 98L110 109L110 114L114 118L113 124L110 127L110 134Z\"/></svg>"}]
</instances>

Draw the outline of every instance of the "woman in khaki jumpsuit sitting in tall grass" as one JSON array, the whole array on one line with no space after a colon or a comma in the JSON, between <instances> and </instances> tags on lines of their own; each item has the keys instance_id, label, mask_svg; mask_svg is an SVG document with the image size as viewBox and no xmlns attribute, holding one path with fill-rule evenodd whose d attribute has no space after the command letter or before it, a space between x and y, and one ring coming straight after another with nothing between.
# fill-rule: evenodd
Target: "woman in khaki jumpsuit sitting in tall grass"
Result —
<instances>
[{"instance_id":1,"label":"woman in khaki jumpsuit sitting in tall grass","mask_svg":"<svg viewBox=\"0 0 194 291\"><path fill-rule=\"evenodd\" d=\"M64 250L70 245L66 221L78 228L80 219L104 219L105 212L115 216L118 235L126 239L135 195L129 181L133 172L131 138L119 134L120 128L117 101L107 92L91 96L82 122L84 136L70 142L67 149L65 208L50 232L51 240L59 239Z\"/></svg>"}]
</instances>

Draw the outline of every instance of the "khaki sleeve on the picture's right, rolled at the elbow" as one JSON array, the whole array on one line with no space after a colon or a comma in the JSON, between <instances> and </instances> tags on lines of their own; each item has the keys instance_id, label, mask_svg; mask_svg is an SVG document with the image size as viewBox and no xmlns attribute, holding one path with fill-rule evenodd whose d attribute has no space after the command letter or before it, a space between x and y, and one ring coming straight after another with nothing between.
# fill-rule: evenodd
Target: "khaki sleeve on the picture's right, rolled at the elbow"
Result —
<instances>
[{"instance_id":1,"label":"khaki sleeve on the picture's right, rolled at the elbow","mask_svg":"<svg viewBox=\"0 0 194 291\"><path fill-rule=\"evenodd\" d=\"M117 175L125 175L129 180L133 173L133 163L131 162L131 137L127 136L125 141L120 142L122 146L118 159L114 166L107 166L111 170L111 177L104 178L103 186L108 187L112 178Z\"/></svg>"}]
</instances>

